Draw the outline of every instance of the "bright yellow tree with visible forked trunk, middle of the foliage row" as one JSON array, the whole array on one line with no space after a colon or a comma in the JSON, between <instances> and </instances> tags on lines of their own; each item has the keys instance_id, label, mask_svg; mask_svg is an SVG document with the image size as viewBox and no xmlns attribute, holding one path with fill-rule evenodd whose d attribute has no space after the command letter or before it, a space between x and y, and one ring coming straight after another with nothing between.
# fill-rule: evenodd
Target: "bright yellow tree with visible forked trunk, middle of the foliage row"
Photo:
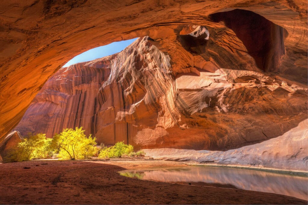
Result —
<instances>
[{"instance_id":1,"label":"bright yellow tree with visible forked trunk, middle of the foliage row","mask_svg":"<svg viewBox=\"0 0 308 205\"><path fill-rule=\"evenodd\" d=\"M96 138L87 137L82 127L63 129L60 134L53 137L51 147L62 159L86 159L94 156L97 152Z\"/></svg>"}]
</instances>

